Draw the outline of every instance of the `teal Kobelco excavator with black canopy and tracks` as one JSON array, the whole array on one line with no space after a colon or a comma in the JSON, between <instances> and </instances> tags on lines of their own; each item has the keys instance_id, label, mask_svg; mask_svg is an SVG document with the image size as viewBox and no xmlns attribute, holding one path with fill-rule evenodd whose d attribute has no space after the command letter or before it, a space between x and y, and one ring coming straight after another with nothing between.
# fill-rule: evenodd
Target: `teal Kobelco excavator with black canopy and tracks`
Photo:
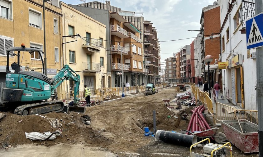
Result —
<instances>
[{"instance_id":1,"label":"teal Kobelco excavator with black canopy and tracks","mask_svg":"<svg viewBox=\"0 0 263 157\"><path fill-rule=\"evenodd\" d=\"M17 56L17 63L11 64L9 69L9 54ZM44 61L41 49L27 48L24 44L21 47L10 47L7 49L6 66L6 87L3 88L3 100L0 102L0 109L15 108L14 113L18 115L44 114L49 112L60 112L65 110L63 101L47 101L55 97L55 89L65 81L72 79L74 81L74 99L73 104L78 111L85 111L84 107L77 107L79 103L79 74L75 73L69 65L65 65L52 79L45 74L37 71L23 71L20 69L20 52L38 53L44 69ZM42 54L41 54L42 53ZM68 109L66 109L68 111ZM73 110L74 111L74 110Z\"/></svg>"}]
</instances>

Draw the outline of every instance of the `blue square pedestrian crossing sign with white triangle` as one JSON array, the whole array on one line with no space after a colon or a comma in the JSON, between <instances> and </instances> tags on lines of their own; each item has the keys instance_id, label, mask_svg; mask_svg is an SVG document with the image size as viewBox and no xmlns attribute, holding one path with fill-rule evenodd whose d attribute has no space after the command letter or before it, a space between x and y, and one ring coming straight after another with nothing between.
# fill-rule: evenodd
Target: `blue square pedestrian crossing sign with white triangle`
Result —
<instances>
[{"instance_id":1,"label":"blue square pedestrian crossing sign with white triangle","mask_svg":"<svg viewBox=\"0 0 263 157\"><path fill-rule=\"evenodd\" d=\"M263 46L263 13L246 21L246 48Z\"/></svg>"}]
</instances>

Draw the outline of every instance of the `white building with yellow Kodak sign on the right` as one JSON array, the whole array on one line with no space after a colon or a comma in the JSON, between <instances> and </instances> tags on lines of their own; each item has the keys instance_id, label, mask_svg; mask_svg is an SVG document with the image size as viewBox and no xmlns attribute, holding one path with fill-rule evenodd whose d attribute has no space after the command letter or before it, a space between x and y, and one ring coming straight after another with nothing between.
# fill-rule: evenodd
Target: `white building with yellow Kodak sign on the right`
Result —
<instances>
[{"instance_id":1,"label":"white building with yellow Kodak sign on the right","mask_svg":"<svg viewBox=\"0 0 263 157\"><path fill-rule=\"evenodd\" d=\"M249 7L248 7L249 6ZM255 15L255 4L241 1L220 1L222 57L222 92L237 107L257 110L256 60L250 54L256 49L246 48L245 21ZM246 11L251 15L246 16ZM256 117L257 115L253 115Z\"/></svg>"}]
</instances>

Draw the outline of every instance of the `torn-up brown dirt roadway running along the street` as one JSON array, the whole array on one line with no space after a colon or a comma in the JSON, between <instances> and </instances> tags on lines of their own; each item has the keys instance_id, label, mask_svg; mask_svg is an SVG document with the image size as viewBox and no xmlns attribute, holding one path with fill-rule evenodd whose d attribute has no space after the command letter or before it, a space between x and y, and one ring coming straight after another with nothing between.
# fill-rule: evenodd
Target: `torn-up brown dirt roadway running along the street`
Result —
<instances>
[{"instance_id":1,"label":"torn-up brown dirt roadway running along the street","mask_svg":"<svg viewBox=\"0 0 263 157\"><path fill-rule=\"evenodd\" d=\"M72 156L189 156L189 147L159 143L155 142L153 137L144 136L144 127L153 131L153 110L156 111L157 130L180 131L187 128L189 120L181 120L180 114L186 112L190 117L191 108L169 110L162 100L172 100L175 95L175 88L170 87L159 90L155 95L139 94L106 101L87 108L85 115L90 117L90 125L84 124L83 114L75 112L69 115L43 114L45 118L38 115L18 116L7 113L7 116L0 120L0 148L3 148L0 156L71 156L71 150L79 152ZM170 105L176 106L175 103ZM63 138L31 141L25 137L25 132L55 131L56 128L50 128L47 118L61 121ZM48 150L45 149L47 147ZM33 149L37 151L32 151ZM194 152L201 150L202 148L195 148ZM240 150L234 151L233 156L243 155ZM58 152L60 153L57 154Z\"/></svg>"}]
</instances>

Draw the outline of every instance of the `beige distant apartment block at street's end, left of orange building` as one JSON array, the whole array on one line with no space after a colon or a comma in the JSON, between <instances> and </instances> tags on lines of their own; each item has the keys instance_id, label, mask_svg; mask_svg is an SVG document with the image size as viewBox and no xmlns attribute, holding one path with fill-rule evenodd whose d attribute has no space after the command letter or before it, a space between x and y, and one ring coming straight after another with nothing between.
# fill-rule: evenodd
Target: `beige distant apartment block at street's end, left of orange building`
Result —
<instances>
[{"instance_id":1,"label":"beige distant apartment block at street's end, left of orange building","mask_svg":"<svg viewBox=\"0 0 263 157\"><path fill-rule=\"evenodd\" d=\"M176 82L176 56L165 59L165 78L168 82Z\"/></svg>"}]
</instances>

